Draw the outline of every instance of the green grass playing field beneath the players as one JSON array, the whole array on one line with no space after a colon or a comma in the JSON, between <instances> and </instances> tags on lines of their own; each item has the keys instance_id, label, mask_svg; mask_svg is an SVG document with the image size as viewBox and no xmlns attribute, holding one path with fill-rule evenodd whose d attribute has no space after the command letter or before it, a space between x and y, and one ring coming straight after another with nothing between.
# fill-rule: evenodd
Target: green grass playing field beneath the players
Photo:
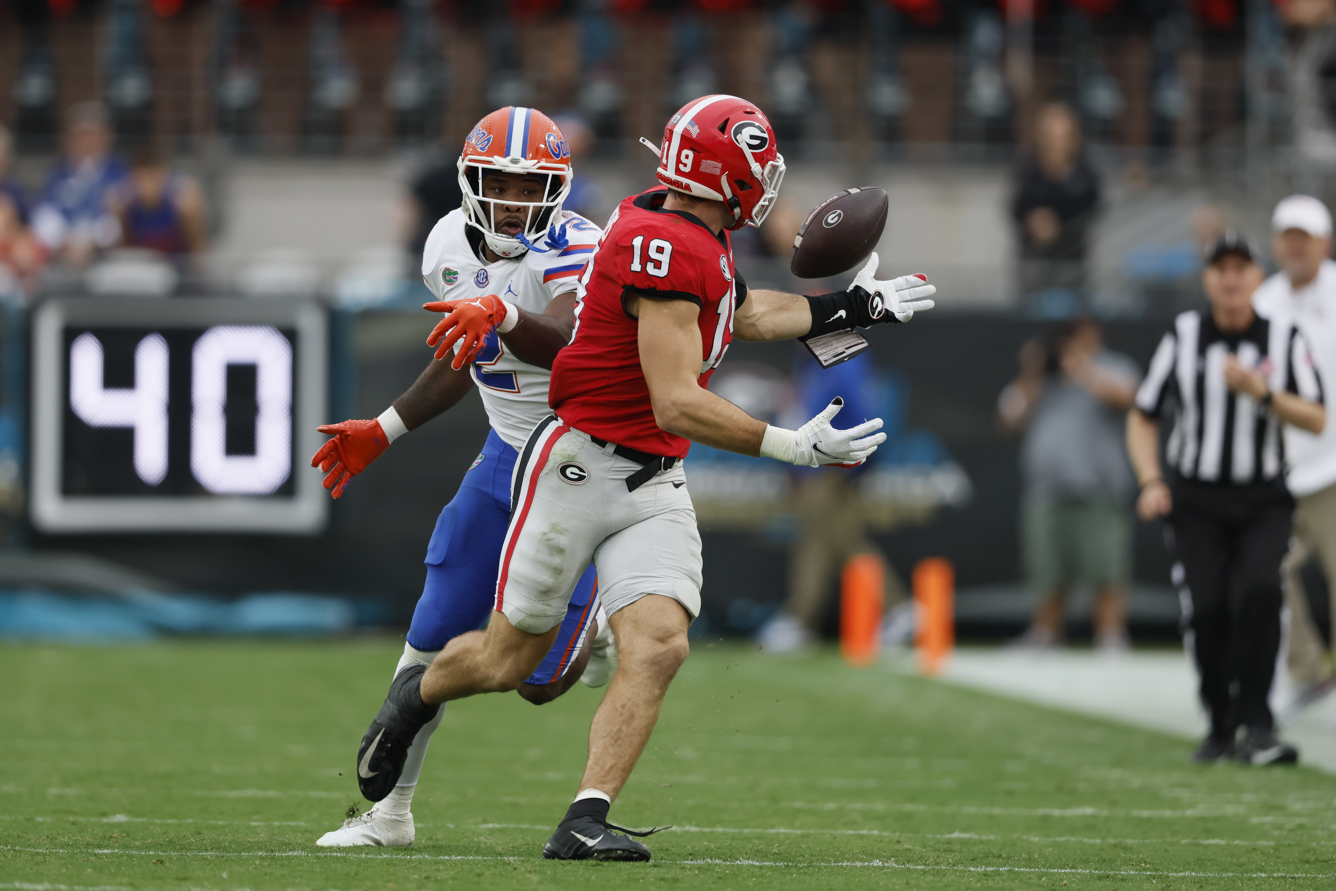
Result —
<instances>
[{"instance_id":1,"label":"green grass playing field beneath the players","mask_svg":"<svg viewBox=\"0 0 1336 891\"><path fill-rule=\"evenodd\" d=\"M1332 888L1336 777L834 655L696 643L612 819L540 858L599 691L453 704L409 850L313 842L401 644L0 648L0 888ZM362 803L365 804L365 803Z\"/></svg>"}]
</instances>

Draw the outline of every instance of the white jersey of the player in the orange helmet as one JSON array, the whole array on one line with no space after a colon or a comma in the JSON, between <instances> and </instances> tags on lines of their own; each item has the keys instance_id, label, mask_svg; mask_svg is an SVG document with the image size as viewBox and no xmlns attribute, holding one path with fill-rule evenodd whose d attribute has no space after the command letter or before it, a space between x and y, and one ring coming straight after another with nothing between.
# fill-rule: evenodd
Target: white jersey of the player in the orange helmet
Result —
<instances>
[{"instance_id":1,"label":"white jersey of the player in the orange helmet","mask_svg":"<svg viewBox=\"0 0 1336 891\"><path fill-rule=\"evenodd\" d=\"M542 313L557 294L576 290L576 279L603 235L597 226L570 211L561 212L558 228L561 223L565 223L565 248L550 248L545 254L530 250L486 263L469 243L464 211L450 211L428 235L422 278L442 301L496 294L522 310ZM545 248L548 236L533 243ZM474 357L469 373L482 394L492 427L513 449L522 448L538 421L552 414L548 407L552 373L510 355L494 330Z\"/></svg>"}]
</instances>

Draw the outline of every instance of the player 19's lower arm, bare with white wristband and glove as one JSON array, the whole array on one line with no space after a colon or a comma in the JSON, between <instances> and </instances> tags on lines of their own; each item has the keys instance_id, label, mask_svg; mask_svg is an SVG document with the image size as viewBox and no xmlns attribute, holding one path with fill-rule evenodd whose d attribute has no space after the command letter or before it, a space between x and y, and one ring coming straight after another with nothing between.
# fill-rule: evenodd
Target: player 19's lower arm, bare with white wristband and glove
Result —
<instances>
[{"instance_id":1,"label":"player 19's lower arm, bare with white wristband and glove","mask_svg":"<svg viewBox=\"0 0 1336 891\"><path fill-rule=\"evenodd\" d=\"M840 410L835 399L798 430L772 427L732 402L700 386L700 313L695 303L640 298L633 310L640 318L640 367L649 386L655 422L693 442L775 458L810 468L854 466L886 441L878 433L880 418L848 430L836 430L831 419Z\"/></svg>"}]
</instances>

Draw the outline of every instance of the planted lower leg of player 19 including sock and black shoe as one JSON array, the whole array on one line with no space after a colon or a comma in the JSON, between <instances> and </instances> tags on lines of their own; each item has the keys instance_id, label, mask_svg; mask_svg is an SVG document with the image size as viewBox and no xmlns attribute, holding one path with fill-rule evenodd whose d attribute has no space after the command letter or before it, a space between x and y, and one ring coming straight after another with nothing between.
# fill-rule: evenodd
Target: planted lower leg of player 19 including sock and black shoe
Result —
<instances>
[{"instance_id":1,"label":"planted lower leg of player 19 including sock and black shoe","mask_svg":"<svg viewBox=\"0 0 1336 891\"><path fill-rule=\"evenodd\" d=\"M589 727L589 761L580 792L542 848L549 859L649 859L648 847L611 830L648 834L608 823L608 808L645 749L668 685L687 659L691 617L676 600L651 594L611 620L621 661Z\"/></svg>"}]
</instances>

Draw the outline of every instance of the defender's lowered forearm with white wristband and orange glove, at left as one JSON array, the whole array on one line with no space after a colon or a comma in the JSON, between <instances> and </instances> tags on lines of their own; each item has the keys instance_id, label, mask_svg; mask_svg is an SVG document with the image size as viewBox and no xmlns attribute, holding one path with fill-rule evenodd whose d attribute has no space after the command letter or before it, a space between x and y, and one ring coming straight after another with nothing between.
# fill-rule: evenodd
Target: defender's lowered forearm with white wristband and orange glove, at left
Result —
<instances>
[{"instance_id":1,"label":"defender's lowered forearm with white wristband and orange glove, at left","mask_svg":"<svg viewBox=\"0 0 1336 891\"><path fill-rule=\"evenodd\" d=\"M371 421L343 421L317 427L327 439L311 458L325 472L325 488L339 498L353 477L366 470L398 437L452 407L473 386L468 370L449 362L430 362L403 395Z\"/></svg>"}]
</instances>

